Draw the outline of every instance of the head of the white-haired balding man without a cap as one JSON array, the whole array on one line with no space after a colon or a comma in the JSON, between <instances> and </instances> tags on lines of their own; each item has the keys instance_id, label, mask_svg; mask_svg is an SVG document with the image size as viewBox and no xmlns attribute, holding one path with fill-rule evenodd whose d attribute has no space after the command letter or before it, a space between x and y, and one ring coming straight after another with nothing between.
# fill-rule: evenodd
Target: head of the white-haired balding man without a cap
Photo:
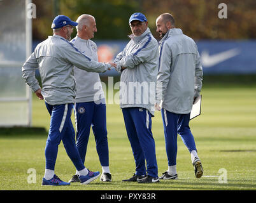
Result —
<instances>
[{"instance_id":1,"label":"head of the white-haired balding man without a cap","mask_svg":"<svg viewBox=\"0 0 256 203\"><path fill-rule=\"evenodd\" d=\"M94 32L97 32L96 20L94 16L89 14L80 15L76 22L76 30L78 37L82 39L91 39L94 37Z\"/></svg>"}]
</instances>

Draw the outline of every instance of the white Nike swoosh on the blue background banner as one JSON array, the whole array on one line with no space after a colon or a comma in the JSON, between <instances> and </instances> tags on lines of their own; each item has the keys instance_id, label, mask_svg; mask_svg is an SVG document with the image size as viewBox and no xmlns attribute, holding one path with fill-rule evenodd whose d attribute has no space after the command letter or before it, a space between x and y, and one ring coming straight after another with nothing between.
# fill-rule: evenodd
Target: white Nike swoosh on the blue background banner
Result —
<instances>
[{"instance_id":1,"label":"white Nike swoosh on the blue background banner","mask_svg":"<svg viewBox=\"0 0 256 203\"><path fill-rule=\"evenodd\" d=\"M202 51L201 62L203 67L208 68L220 62L224 62L225 60L228 60L229 58L232 58L236 55L239 55L239 53L239 49L229 49L227 51L223 51L210 56L208 51Z\"/></svg>"}]
</instances>

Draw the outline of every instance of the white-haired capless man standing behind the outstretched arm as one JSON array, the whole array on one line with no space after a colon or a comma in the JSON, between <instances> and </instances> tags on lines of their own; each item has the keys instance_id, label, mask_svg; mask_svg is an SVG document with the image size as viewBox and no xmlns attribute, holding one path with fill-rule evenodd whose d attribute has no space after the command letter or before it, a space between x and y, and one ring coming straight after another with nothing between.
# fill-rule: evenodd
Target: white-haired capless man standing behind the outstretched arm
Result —
<instances>
[{"instance_id":1,"label":"white-haired capless man standing behind the outstretched arm","mask_svg":"<svg viewBox=\"0 0 256 203\"><path fill-rule=\"evenodd\" d=\"M71 41L85 55L98 61L97 45L90 39L97 32L94 16L83 14L76 20L77 36ZM96 140L97 154L101 162L103 173L101 181L111 181L109 167L108 138L106 129L106 101L104 98L101 79L96 72L80 71L74 69L76 79L76 147L83 162L87 152L87 144L90 136L90 126ZM78 182L78 171L69 182Z\"/></svg>"}]
</instances>

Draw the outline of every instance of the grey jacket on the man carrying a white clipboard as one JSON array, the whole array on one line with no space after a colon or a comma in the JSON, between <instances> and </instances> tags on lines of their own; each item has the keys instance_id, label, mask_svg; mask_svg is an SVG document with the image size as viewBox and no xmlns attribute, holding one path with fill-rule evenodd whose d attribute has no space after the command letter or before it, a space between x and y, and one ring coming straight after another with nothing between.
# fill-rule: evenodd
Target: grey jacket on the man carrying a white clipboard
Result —
<instances>
[{"instance_id":1,"label":"grey jacket on the man carrying a white clipboard","mask_svg":"<svg viewBox=\"0 0 256 203\"><path fill-rule=\"evenodd\" d=\"M175 114L188 114L202 88L203 69L193 39L170 29L160 40L157 103Z\"/></svg>"}]
</instances>

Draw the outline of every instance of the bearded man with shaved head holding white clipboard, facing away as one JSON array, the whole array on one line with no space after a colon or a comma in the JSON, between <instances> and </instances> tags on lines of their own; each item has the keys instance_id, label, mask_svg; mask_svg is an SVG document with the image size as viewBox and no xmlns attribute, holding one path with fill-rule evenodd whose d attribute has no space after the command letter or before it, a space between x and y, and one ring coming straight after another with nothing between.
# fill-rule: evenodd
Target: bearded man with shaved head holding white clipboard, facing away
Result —
<instances>
[{"instance_id":1,"label":"bearded man with shaved head holding white clipboard, facing away","mask_svg":"<svg viewBox=\"0 0 256 203\"><path fill-rule=\"evenodd\" d=\"M155 109L161 110L166 140L168 170L160 179L177 179L176 156L177 134L191 154L196 178L203 175L201 160L189 128L190 112L200 95L203 69L193 39L176 29L174 18L169 13L156 20L159 42L159 73L157 75L157 96ZM162 100L162 103L161 103Z\"/></svg>"}]
</instances>

